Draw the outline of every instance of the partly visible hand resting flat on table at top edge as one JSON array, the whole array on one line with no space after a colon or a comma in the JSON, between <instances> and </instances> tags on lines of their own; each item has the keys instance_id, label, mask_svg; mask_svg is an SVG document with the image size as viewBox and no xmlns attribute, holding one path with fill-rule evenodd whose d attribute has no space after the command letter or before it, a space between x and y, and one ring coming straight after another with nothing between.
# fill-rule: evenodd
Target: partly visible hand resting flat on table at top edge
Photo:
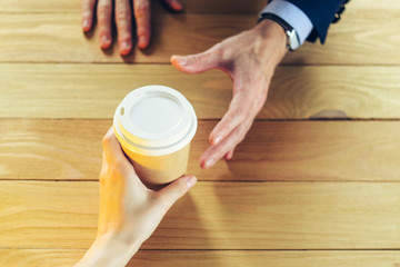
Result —
<instances>
[{"instance_id":1,"label":"partly visible hand resting flat on table at top edge","mask_svg":"<svg viewBox=\"0 0 400 267\"><path fill-rule=\"evenodd\" d=\"M161 0L173 11L182 11L179 0ZM150 43L150 0L83 0L82 28L90 31L94 24L94 9L100 28L100 47L107 49L112 43L111 19L114 10L114 20L118 31L120 53L126 56L132 50L132 17L131 4L137 24L138 47L144 49Z\"/></svg>"}]
</instances>

